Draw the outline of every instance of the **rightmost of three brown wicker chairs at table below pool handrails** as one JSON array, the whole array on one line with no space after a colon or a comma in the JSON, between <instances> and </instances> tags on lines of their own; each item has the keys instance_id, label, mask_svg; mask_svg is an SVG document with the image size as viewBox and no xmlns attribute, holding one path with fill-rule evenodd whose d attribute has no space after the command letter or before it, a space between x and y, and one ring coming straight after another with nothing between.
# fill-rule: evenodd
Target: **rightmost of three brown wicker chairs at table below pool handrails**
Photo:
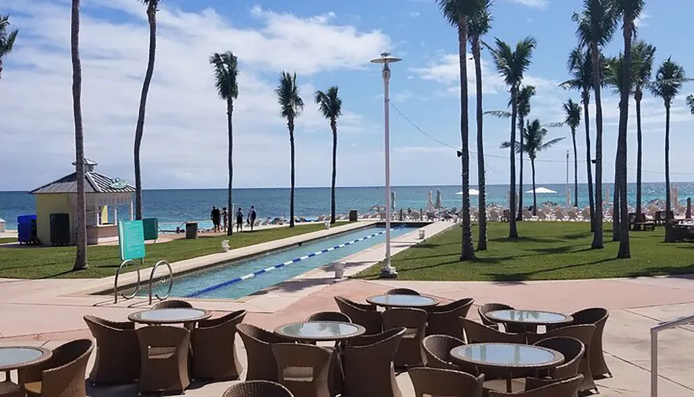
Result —
<instances>
[{"instance_id":1,"label":"rightmost of three brown wicker chairs at table below pool handrails","mask_svg":"<svg viewBox=\"0 0 694 397\"><path fill-rule=\"evenodd\" d=\"M192 335L193 377L237 380L244 370L236 353L236 326L246 310L230 312L216 319L198 321Z\"/></svg>"}]
</instances>

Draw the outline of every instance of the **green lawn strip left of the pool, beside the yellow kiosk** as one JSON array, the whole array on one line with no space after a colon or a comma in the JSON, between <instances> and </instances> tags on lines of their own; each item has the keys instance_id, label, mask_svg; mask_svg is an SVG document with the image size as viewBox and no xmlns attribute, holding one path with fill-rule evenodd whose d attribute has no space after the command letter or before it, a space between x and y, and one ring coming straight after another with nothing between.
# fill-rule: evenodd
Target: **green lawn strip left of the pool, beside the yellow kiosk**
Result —
<instances>
[{"instance_id":1,"label":"green lawn strip left of the pool, beside the yellow kiosk","mask_svg":"<svg viewBox=\"0 0 694 397\"><path fill-rule=\"evenodd\" d=\"M231 249L298 236L325 229L323 224L297 225L227 236L201 236L198 240L174 240L146 245L145 265L157 261L170 263L221 252L221 240L229 240ZM0 277L13 279L87 279L112 276L121 264L117 245L90 246L87 249L89 268L73 271L75 247L0 247Z\"/></svg>"}]
</instances>

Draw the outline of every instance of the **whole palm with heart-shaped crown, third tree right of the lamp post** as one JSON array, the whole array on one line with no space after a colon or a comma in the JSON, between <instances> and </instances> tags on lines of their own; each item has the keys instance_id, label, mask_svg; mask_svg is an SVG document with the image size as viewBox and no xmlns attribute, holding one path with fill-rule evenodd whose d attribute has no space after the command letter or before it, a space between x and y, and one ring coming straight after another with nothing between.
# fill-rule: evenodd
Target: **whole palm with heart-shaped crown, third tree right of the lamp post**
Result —
<instances>
[{"instance_id":1,"label":"whole palm with heart-shaped crown, third tree right of the lamp post","mask_svg":"<svg viewBox=\"0 0 694 397\"><path fill-rule=\"evenodd\" d=\"M509 238L518 238L516 227L516 119L518 118L518 91L523 82L523 75L532 62L532 52L537 46L533 37L526 37L516 44L514 50L509 44L496 39L496 48L489 48L494 58L496 70L504 78L504 82L511 91L511 139L509 140L509 152L511 163L511 182L509 189Z\"/></svg>"}]
</instances>

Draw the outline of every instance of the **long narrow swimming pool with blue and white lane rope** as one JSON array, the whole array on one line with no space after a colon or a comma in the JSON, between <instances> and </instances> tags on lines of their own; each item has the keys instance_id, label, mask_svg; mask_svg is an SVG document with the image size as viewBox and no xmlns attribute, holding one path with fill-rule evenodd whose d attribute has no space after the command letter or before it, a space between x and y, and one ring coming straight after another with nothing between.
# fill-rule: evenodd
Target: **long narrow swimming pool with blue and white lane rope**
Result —
<instances>
[{"instance_id":1,"label":"long narrow swimming pool with blue and white lane rope","mask_svg":"<svg viewBox=\"0 0 694 397\"><path fill-rule=\"evenodd\" d=\"M417 227L409 226L391 229L391 238L416 229ZM238 299L384 241L384 227L369 227L244 261L215 266L175 277L171 297ZM251 274L253 276L249 276ZM165 294L167 288L168 283L156 283L153 285L153 294ZM143 288L140 295L146 294L147 291Z\"/></svg>"}]
</instances>

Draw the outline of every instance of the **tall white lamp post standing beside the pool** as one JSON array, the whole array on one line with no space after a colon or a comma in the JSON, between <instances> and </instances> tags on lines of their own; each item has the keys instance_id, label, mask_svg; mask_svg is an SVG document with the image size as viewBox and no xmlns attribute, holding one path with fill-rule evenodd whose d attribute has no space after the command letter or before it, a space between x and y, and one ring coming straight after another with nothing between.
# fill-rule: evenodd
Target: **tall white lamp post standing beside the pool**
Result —
<instances>
[{"instance_id":1,"label":"tall white lamp post standing beside the pool","mask_svg":"<svg viewBox=\"0 0 694 397\"><path fill-rule=\"evenodd\" d=\"M390 254L390 220L391 220L391 202L390 202L390 114L389 105L390 98L388 92L388 83L390 80L389 64L399 62L400 58L391 56L391 53L381 53L381 58L371 60L371 63L383 64L383 105L384 105L384 136L385 136L385 163L386 163L386 260L381 268L381 276L394 278L398 276L396 268L391 266Z\"/></svg>"}]
</instances>

